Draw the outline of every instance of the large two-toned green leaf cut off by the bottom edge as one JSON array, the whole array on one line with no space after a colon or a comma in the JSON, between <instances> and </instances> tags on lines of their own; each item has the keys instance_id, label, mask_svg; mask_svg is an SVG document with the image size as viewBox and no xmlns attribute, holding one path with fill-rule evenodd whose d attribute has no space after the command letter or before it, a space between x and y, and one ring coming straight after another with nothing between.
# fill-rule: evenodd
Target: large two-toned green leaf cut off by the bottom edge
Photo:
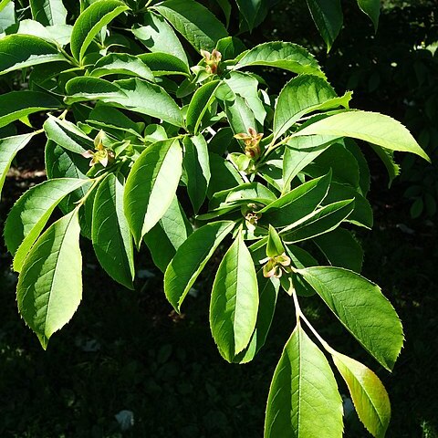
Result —
<instances>
[{"instance_id":1,"label":"large two-toned green leaf cut off by the bottom edge","mask_svg":"<svg viewBox=\"0 0 438 438\"><path fill-rule=\"evenodd\" d=\"M272 379L265 438L340 438L342 430L342 399L335 376L298 322Z\"/></svg>"}]
</instances>

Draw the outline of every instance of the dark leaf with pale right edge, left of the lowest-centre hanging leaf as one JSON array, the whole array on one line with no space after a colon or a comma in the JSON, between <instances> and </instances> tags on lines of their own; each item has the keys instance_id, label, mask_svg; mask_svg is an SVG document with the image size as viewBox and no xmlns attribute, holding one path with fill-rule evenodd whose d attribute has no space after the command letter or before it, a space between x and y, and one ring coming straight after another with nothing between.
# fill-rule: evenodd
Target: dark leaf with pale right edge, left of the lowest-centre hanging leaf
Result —
<instances>
[{"instance_id":1,"label":"dark leaf with pale right edge, left of the lowest-centre hanging leaf","mask_svg":"<svg viewBox=\"0 0 438 438\"><path fill-rule=\"evenodd\" d=\"M205 224L178 248L164 274L164 293L177 312L203 267L234 226L229 221Z\"/></svg>"}]
</instances>

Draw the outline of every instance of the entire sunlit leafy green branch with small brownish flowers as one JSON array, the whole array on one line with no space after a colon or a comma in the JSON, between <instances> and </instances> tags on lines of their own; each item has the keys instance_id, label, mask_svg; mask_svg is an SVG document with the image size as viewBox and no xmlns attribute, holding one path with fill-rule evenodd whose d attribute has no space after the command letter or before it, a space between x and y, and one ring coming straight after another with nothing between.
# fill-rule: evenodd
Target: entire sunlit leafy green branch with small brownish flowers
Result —
<instances>
[{"instance_id":1,"label":"entire sunlit leafy green branch with small brownish flowers","mask_svg":"<svg viewBox=\"0 0 438 438\"><path fill-rule=\"evenodd\" d=\"M33 19L22 11L0 39L0 72L11 87L26 85L0 96L1 183L18 151L47 138L47 182L24 193L5 223L22 317L44 349L72 318L82 295L79 235L130 288L134 252L147 245L178 312L225 248L210 306L225 360L248 362L263 347L280 290L295 303L265 436L342 434L337 381L309 334L332 357L361 422L384 436L391 408L381 381L329 346L298 299L318 295L392 369L401 322L360 276L352 232L372 226L370 172L356 140L383 155L428 156L396 120L350 110L351 93L338 96L303 47L246 49L200 3L144 3L81 2L69 26L60 1L30 2ZM269 68L296 75L278 96L263 79ZM57 206L63 215L48 224Z\"/></svg>"}]
</instances>

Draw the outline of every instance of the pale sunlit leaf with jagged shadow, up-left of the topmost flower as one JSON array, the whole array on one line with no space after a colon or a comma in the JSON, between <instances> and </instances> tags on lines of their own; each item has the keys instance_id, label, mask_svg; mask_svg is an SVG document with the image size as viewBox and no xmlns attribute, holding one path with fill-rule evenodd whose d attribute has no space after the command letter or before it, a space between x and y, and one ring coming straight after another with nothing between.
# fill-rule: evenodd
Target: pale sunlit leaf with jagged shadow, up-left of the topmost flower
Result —
<instances>
[{"instance_id":1,"label":"pale sunlit leaf with jagged shadow, up-left of the topmost flower","mask_svg":"<svg viewBox=\"0 0 438 438\"><path fill-rule=\"evenodd\" d=\"M189 65L183 46L175 35L172 27L166 20L151 11L143 15L143 26L132 27L132 33L151 52L162 52L180 59L186 66Z\"/></svg>"}]
</instances>

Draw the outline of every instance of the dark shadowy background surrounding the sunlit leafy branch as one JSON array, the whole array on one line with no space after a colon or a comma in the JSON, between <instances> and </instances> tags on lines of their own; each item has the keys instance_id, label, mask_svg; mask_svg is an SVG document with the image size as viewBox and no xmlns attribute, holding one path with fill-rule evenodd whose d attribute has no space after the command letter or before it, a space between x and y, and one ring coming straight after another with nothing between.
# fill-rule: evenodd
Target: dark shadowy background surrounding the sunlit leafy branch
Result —
<instances>
[{"instance_id":1,"label":"dark shadowy background surrounding the sunlit leafy branch","mask_svg":"<svg viewBox=\"0 0 438 438\"><path fill-rule=\"evenodd\" d=\"M344 2L344 28L327 55L301 0L279 2L248 45L266 39L297 42L314 52L340 93L354 90L352 106L401 120L435 158L429 165L397 156L402 176L388 176L367 151L375 227L360 232L364 276L378 283L398 311L406 342L389 374L360 349L318 299L303 306L335 348L375 370L390 393L388 437L438 437L436 200L438 180L438 30L434 1L383 2L377 35L356 2ZM426 48L427 47L427 48ZM271 77L282 84L285 77ZM43 145L21 153L0 204L0 223L29 185L44 179ZM2 224L3 225L3 224ZM89 242L84 253L84 297L78 313L47 351L16 310L16 276L0 254L0 436L2 437L261 437L269 382L295 325L293 305L280 297L267 340L248 365L230 365L215 349L208 327L213 260L177 316L163 297L162 276L141 254L136 290L116 285L99 268ZM218 255L219 256L219 255ZM304 299L304 298L303 298ZM339 390L347 389L339 381ZM133 413L121 432L115 415ZM349 438L370 436L354 414ZM321 437L324 438L324 437Z\"/></svg>"}]
</instances>

